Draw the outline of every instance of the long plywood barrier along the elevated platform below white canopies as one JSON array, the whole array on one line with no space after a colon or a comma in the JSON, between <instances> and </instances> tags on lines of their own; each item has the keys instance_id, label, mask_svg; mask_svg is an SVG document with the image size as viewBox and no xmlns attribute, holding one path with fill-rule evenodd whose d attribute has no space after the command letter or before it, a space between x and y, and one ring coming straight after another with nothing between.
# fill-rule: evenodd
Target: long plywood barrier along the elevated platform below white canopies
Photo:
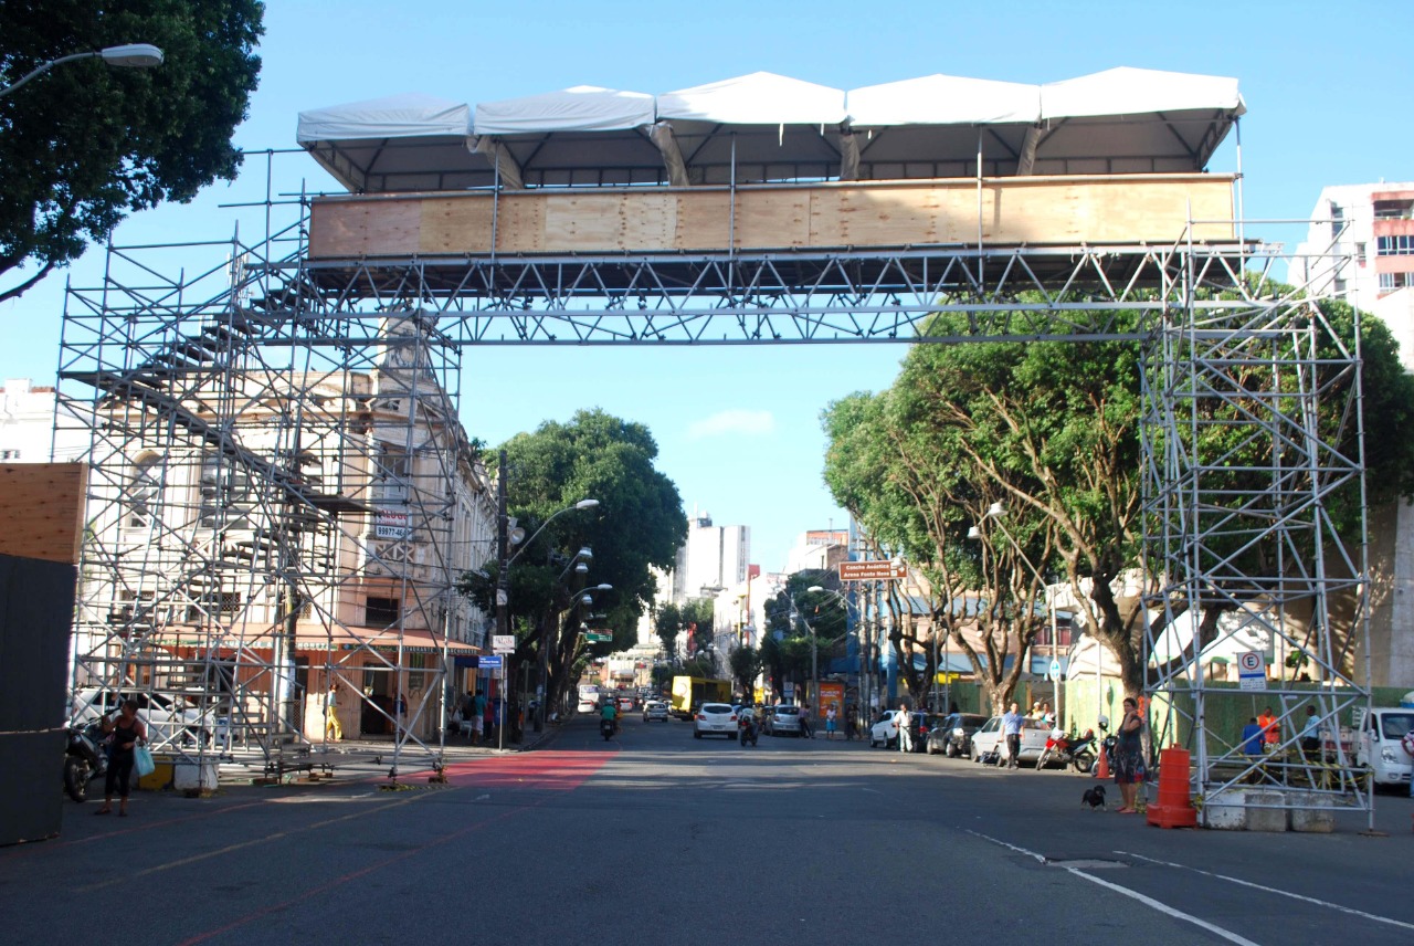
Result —
<instances>
[{"instance_id":1,"label":"long plywood barrier along the elevated platform below white canopies","mask_svg":"<svg viewBox=\"0 0 1414 946\"><path fill-rule=\"evenodd\" d=\"M1230 175L1010 177L322 198L311 259L1233 239Z\"/></svg>"}]
</instances>

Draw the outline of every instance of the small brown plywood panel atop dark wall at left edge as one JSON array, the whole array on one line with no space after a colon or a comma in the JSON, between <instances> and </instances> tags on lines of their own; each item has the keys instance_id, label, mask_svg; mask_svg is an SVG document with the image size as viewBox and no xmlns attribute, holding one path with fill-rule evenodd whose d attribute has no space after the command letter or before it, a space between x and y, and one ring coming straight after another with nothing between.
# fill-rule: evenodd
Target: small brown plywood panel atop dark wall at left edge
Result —
<instances>
[{"instance_id":1,"label":"small brown plywood panel atop dark wall at left edge","mask_svg":"<svg viewBox=\"0 0 1414 946\"><path fill-rule=\"evenodd\" d=\"M86 489L83 464L0 467L0 553L76 563Z\"/></svg>"}]
</instances>

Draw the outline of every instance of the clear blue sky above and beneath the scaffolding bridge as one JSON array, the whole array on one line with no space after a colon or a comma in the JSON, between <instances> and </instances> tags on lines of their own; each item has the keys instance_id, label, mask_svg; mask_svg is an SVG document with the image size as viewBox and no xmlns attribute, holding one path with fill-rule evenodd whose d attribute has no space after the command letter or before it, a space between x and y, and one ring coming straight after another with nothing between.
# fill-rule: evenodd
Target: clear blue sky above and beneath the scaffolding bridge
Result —
<instances>
[{"instance_id":1,"label":"clear blue sky above and beneath the scaffolding bridge","mask_svg":"<svg viewBox=\"0 0 1414 946\"><path fill-rule=\"evenodd\" d=\"M1249 219L1304 218L1324 185L1414 178L1414 4L1386 3L419 3L270 4L260 89L239 146L294 147L300 110L397 92L493 100L571 85L667 92L766 69L836 88L932 72L1049 82L1131 65L1237 76ZM141 37L133 37L134 41ZM42 95L42 85L25 89ZM1403 157L1401 157L1403 156ZM229 238L219 204L257 197L263 158L233 187L124 223L119 242ZM332 189L303 156L277 185ZM1232 139L1210 164L1236 170ZM0 178L3 180L3 178ZM246 222L249 226L249 222ZM1292 228L1257 228L1294 239ZM1249 236L1253 229L1249 228ZM103 255L72 270L92 283ZM49 383L64 280L0 304L0 378ZM496 444L544 419L602 407L648 424L689 512L752 527L752 560L846 516L824 489L820 410L892 382L902 346L468 351L462 419Z\"/></svg>"}]
</instances>

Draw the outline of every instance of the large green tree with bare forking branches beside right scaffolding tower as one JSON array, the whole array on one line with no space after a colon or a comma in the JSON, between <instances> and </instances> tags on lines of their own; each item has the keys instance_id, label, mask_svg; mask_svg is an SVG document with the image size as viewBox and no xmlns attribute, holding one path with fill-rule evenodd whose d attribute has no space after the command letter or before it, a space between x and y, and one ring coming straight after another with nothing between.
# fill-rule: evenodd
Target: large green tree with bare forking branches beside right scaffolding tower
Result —
<instances>
[{"instance_id":1,"label":"large green tree with bare forking branches beside right scaffolding tower","mask_svg":"<svg viewBox=\"0 0 1414 946\"><path fill-rule=\"evenodd\" d=\"M929 331L962 334L966 327L952 322L964 318L940 314ZM1121 329L1140 322L1135 313L1117 318ZM1343 304L1322 303L1312 321L1325 324L1321 345L1328 351L1353 341L1353 313ZM1360 351L1372 492L1408 495L1414 380L1400 370L1379 320L1363 320ZM1324 370L1322 409L1340 411L1340 392L1353 378L1343 373L1339 358ZM1249 380L1263 390L1270 379ZM1089 632L1116 656L1126 691L1145 686L1144 609L1114 592L1143 551L1140 389L1138 345L1130 341L918 345L888 392L854 395L824 414L831 491L874 537L919 563L933 583L935 618L945 625L954 621L956 608L939 608L969 588L980 592L984 653L973 653L956 625L950 633L994 706L1010 699L1019 679L1019 666L1000 673L1000 658L1008 649L1024 656L1044 621L1035 604L1038 573L1072 585ZM1200 444L1209 455L1232 457L1222 479L1234 503L1260 494L1274 464L1270 438L1253 437L1251 427L1236 423L1264 410L1258 402L1198 404L1208 419L1234 421L1200 434L1212 441ZM1331 427L1333 421L1324 419ZM1355 426L1343 430L1340 450L1356 455ZM1328 506L1348 535L1359 525L1355 486L1335 494ZM993 501L1005 502L1010 539L983 522ZM971 523L980 525L981 543L964 539ZM1260 561L1274 557L1270 542L1219 551L1234 556L1247 574L1273 571ZM1216 636L1230 595L1258 598L1267 590L1253 584L1225 591L1226 597L1175 602L1176 612L1196 609L1200 643Z\"/></svg>"}]
</instances>

